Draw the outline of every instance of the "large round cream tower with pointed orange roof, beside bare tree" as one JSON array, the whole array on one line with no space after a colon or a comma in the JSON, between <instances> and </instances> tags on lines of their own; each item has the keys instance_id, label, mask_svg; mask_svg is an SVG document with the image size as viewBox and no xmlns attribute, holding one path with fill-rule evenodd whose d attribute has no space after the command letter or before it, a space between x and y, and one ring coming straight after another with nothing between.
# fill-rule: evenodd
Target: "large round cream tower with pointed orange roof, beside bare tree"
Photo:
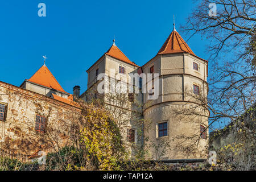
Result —
<instances>
[{"instance_id":1,"label":"large round cream tower with pointed orange roof, beside bare tree","mask_svg":"<svg viewBox=\"0 0 256 182\"><path fill-rule=\"evenodd\" d=\"M148 100L144 94L144 147L154 159L206 158L209 111L201 105L207 103L208 61L196 56L174 27L142 69L159 73L158 97Z\"/></svg>"}]
</instances>

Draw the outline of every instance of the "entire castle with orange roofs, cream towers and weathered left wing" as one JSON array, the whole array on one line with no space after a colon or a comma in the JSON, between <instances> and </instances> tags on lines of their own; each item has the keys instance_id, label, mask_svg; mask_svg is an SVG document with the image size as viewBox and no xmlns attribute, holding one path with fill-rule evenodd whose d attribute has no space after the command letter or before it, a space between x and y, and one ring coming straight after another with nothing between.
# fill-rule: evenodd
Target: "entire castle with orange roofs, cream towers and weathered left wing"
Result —
<instances>
[{"instance_id":1,"label":"entire castle with orange roofs, cream towers and weathered left wing","mask_svg":"<svg viewBox=\"0 0 256 182\"><path fill-rule=\"evenodd\" d=\"M193 53L175 27L159 52L141 67L114 40L86 72L88 89L81 95L80 86L73 88L73 94L65 92L46 64L20 87L0 82L0 147L21 148L27 154L43 150L48 143L43 136L46 126L62 129L56 139L65 145L68 129L63 121L72 122L80 112L74 98L87 102L100 98L131 154L143 147L151 159L206 158L209 111L201 105L207 103L208 61ZM135 79L130 73L141 76L139 85L130 82ZM158 77L145 80L143 74ZM116 84L139 87L139 92L98 92L100 85L106 90ZM151 87L150 92L144 93L143 86Z\"/></svg>"}]
</instances>

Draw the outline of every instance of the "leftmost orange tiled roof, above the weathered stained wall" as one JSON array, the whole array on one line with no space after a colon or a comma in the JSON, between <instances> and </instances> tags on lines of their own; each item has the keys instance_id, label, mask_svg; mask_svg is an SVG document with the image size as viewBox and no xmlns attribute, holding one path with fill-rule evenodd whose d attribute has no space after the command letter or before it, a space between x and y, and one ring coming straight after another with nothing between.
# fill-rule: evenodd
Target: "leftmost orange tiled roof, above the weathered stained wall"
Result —
<instances>
[{"instance_id":1,"label":"leftmost orange tiled roof, above the weathered stained wall","mask_svg":"<svg viewBox=\"0 0 256 182\"><path fill-rule=\"evenodd\" d=\"M43 65L30 79L28 79L28 81L47 86L48 88L59 90L61 92L65 92L65 90L60 86L59 82L57 82L46 65Z\"/></svg>"}]
</instances>

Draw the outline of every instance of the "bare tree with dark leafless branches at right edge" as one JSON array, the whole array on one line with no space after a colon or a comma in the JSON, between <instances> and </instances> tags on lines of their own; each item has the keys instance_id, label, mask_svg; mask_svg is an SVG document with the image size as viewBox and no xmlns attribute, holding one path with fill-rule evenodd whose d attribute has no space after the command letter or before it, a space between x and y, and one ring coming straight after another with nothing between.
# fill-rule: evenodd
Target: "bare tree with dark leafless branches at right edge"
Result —
<instances>
[{"instance_id":1,"label":"bare tree with dark leafless branches at right edge","mask_svg":"<svg viewBox=\"0 0 256 182\"><path fill-rule=\"evenodd\" d=\"M201 0L181 30L208 40L209 123L229 123L255 102L255 10L251 0ZM216 5L216 15L209 6ZM213 5L213 4L212 4ZM249 47L249 48L247 48ZM251 60L251 61L248 61ZM223 125L223 123L221 124ZM215 125L217 126L217 125Z\"/></svg>"}]
</instances>

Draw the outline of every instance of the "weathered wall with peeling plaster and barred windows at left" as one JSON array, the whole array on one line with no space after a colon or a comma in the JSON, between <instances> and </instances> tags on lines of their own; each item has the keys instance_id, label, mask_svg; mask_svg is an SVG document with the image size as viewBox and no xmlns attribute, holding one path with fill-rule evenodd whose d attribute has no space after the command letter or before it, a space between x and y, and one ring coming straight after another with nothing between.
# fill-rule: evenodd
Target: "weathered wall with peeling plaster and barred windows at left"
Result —
<instances>
[{"instance_id":1,"label":"weathered wall with peeling plaster and barred windows at left","mask_svg":"<svg viewBox=\"0 0 256 182\"><path fill-rule=\"evenodd\" d=\"M0 121L0 147L27 155L69 144L68 126L80 112L77 107L4 82L0 82L0 103L6 105L5 121ZM45 133L35 130L37 114L47 118Z\"/></svg>"}]
</instances>

